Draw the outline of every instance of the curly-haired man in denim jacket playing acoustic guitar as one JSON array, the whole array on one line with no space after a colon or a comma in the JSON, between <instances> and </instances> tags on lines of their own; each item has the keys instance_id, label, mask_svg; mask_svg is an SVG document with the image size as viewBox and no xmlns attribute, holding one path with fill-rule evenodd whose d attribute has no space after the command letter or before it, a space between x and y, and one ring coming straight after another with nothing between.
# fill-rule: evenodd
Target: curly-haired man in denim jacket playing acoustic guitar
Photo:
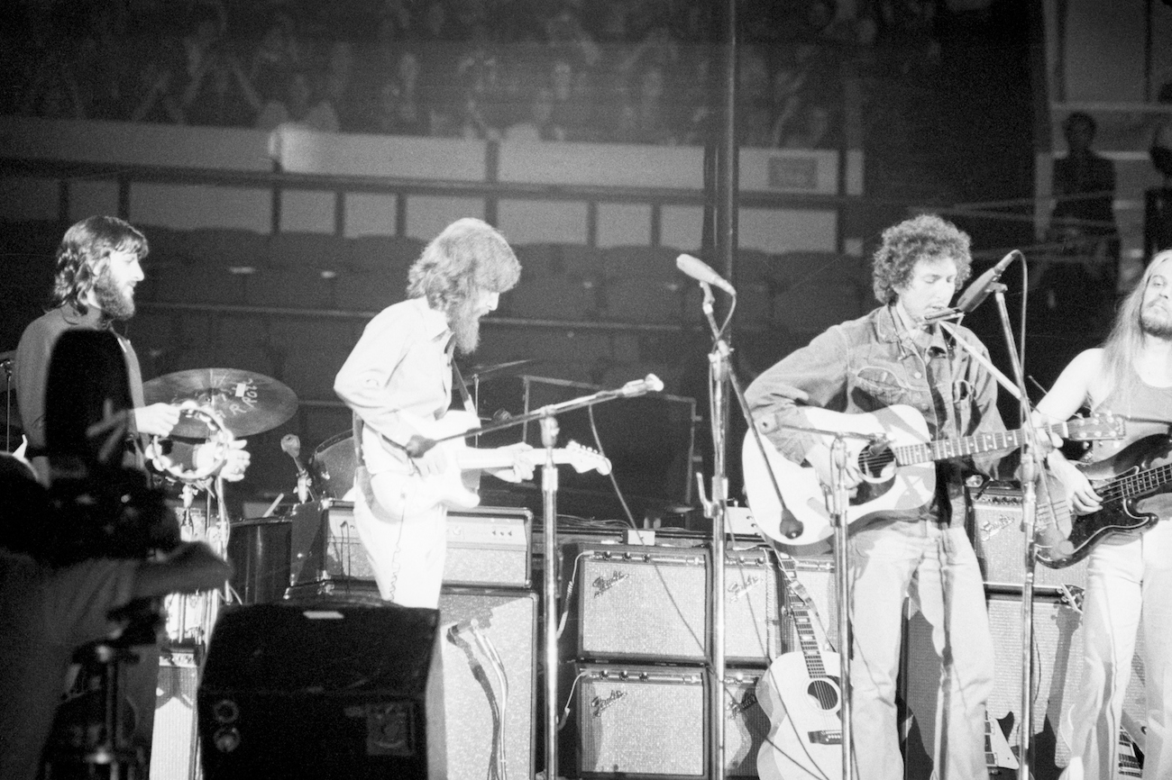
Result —
<instances>
[{"instance_id":1,"label":"curly-haired man in denim jacket playing acoustic guitar","mask_svg":"<svg viewBox=\"0 0 1172 780\"><path fill-rule=\"evenodd\" d=\"M758 430L791 461L809 463L827 486L829 443L779 427L808 425L804 406L850 417L904 404L922 413L932 439L1003 433L993 377L954 338L983 347L968 329L953 329L955 336L933 324L970 265L968 234L936 215L884 231L872 271L883 306L830 328L757 377L745 395ZM851 725L860 780L904 778L895 691L907 596L918 600L943 659L936 700L947 710L939 718L945 728L936 772L950 780L987 778L994 646L981 570L965 531L962 480L974 467L989 471L993 459L940 461L934 494L922 506L890 509L852 528ZM852 488L860 486L857 464L847 465L846 478Z\"/></svg>"}]
</instances>

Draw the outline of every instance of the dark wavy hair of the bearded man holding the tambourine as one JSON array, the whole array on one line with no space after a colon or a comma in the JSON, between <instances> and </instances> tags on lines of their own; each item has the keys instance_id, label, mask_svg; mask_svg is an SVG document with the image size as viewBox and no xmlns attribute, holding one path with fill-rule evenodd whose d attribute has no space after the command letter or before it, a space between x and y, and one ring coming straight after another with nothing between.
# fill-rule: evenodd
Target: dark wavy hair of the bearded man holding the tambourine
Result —
<instances>
[{"instance_id":1,"label":"dark wavy hair of the bearded man holding the tambourine","mask_svg":"<svg viewBox=\"0 0 1172 780\"><path fill-rule=\"evenodd\" d=\"M75 223L57 247L50 307L69 303L84 314L89 309L86 299L102 273L102 261L120 251L134 252L142 260L150 246L145 235L117 217L87 217Z\"/></svg>"}]
</instances>

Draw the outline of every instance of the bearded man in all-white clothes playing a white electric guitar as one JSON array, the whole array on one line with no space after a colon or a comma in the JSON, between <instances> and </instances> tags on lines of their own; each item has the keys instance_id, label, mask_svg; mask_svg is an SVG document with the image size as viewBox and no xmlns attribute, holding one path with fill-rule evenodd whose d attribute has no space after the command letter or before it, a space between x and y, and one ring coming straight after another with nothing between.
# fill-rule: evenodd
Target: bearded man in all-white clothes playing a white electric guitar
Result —
<instances>
[{"instance_id":1,"label":"bearded man in all-white clothes playing a white electric guitar","mask_svg":"<svg viewBox=\"0 0 1172 780\"><path fill-rule=\"evenodd\" d=\"M367 324L334 381L354 411L360 450L355 526L387 601L440 604L447 509L421 497L429 477L457 464L445 447L421 443L448 432L437 435L451 403L452 353L476 349L481 317L519 278L517 255L496 228L479 219L452 223L411 266L408 300ZM517 459L491 473L517 481L533 470Z\"/></svg>"}]
</instances>

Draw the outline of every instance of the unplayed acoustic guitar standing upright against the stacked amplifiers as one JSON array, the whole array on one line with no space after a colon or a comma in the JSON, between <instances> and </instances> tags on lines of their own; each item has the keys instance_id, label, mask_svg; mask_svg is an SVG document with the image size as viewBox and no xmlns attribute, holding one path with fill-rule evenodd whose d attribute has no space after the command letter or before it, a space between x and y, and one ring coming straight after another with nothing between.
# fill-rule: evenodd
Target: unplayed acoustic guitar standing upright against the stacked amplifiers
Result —
<instances>
[{"instance_id":1,"label":"unplayed acoustic guitar standing upright against the stacked amplifiers","mask_svg":"<svg viewBox=\"0 0 1172 780\"><path fill-rule=\"evenodd\" d=\"M757 774L762 780L836 780L843 776L841 661L819 645L818 610L793 559L777 557L796 596L789 609L799 649L775 658L757 683L757 700L772 726L757 751Z\"/></svg>"}]
</instances>

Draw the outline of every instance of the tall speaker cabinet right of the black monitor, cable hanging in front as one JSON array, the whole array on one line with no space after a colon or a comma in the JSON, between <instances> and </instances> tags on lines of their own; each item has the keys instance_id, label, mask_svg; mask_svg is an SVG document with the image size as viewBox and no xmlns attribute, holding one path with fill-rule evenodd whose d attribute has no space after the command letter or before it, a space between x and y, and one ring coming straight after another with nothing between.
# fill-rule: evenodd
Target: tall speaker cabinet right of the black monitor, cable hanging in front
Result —
<instances>
[{"instance_id":1,"label":"tall speaker cabinet right of the black monitor, cable hanging in front","mask_svg":"<svg viewBox=\"0 0 1172 780\"><path fill-rule=\"evenodd\" d=\"M449 780L533 776L537 594L440 596Z\"/></svg>"}]
</instances>

